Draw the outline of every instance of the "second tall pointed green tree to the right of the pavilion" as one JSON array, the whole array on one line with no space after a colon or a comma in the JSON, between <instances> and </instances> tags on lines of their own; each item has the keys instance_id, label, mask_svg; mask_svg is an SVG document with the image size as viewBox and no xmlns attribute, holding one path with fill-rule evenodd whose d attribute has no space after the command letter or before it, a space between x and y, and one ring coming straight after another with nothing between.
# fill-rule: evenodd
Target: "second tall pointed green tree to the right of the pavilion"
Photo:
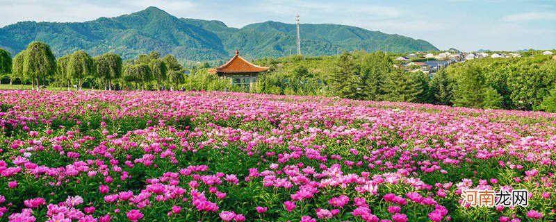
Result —
<instances>
[{"instance_id":1,"label":"second tall pointed green tree to the right of the pavilion","mask_svg":"<svg viewBox=\"0 0 556 222\"><path fill-rule=\"evenodd\" d=\"M365 99L380 100L384 94L382 89L385 76L392 71L393 63L388 54L377 51L363 56L361 64L361 80Z\"/></svg>"}]
</instances>

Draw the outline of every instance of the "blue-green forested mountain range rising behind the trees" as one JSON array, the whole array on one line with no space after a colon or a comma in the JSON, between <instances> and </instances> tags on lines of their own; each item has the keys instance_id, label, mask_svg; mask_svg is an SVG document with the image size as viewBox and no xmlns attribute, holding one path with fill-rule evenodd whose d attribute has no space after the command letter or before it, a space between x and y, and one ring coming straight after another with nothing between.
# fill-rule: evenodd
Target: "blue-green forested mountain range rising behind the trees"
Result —
<instances>
[{"instance_id":1,"label":"blue-green forested mountain range rising behind the trees","mask_svg":"<svg viewBox=\"0 0 556 222\"><path fill-rule=\"evenodd\" d=\"M338 24L300 24L302 54L337 51L411 52L438 50L425 40ZM124 59L158 51L180 60L227 60L238 49L248 59L296 53L295 24L263 22L232 28L220 21L177 18L149 7L129 15L89 22L18 22L0 28L0 48L15 56L33 41L46 42L56 56L83 49L92 56L117 53Z\"/></svg>"}]
</instances>

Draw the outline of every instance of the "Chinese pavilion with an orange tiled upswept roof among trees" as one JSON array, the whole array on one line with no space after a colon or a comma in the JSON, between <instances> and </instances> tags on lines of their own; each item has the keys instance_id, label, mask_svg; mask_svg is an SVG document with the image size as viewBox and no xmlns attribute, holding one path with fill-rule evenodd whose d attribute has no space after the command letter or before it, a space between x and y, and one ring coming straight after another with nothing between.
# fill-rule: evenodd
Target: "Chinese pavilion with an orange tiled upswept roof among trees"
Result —
<instances>
[{"instance_id":1,"label":"Chinese pavilion with an orange tiled upswept roof among trees","mask_svg":"<svg viewBox=\"0 0 556 222\"><path fill-rule=\"evenodd\" d=\"M259 73L267 70L268 67L259 67L251 62L247 62L247 60L239 56L239 51L236 50L236 56L218 68L208 69L208 73L230 78L232 85L238 85L246 91L249 90L253 83L256 83Z\"/></svg>"}]
</instances>

